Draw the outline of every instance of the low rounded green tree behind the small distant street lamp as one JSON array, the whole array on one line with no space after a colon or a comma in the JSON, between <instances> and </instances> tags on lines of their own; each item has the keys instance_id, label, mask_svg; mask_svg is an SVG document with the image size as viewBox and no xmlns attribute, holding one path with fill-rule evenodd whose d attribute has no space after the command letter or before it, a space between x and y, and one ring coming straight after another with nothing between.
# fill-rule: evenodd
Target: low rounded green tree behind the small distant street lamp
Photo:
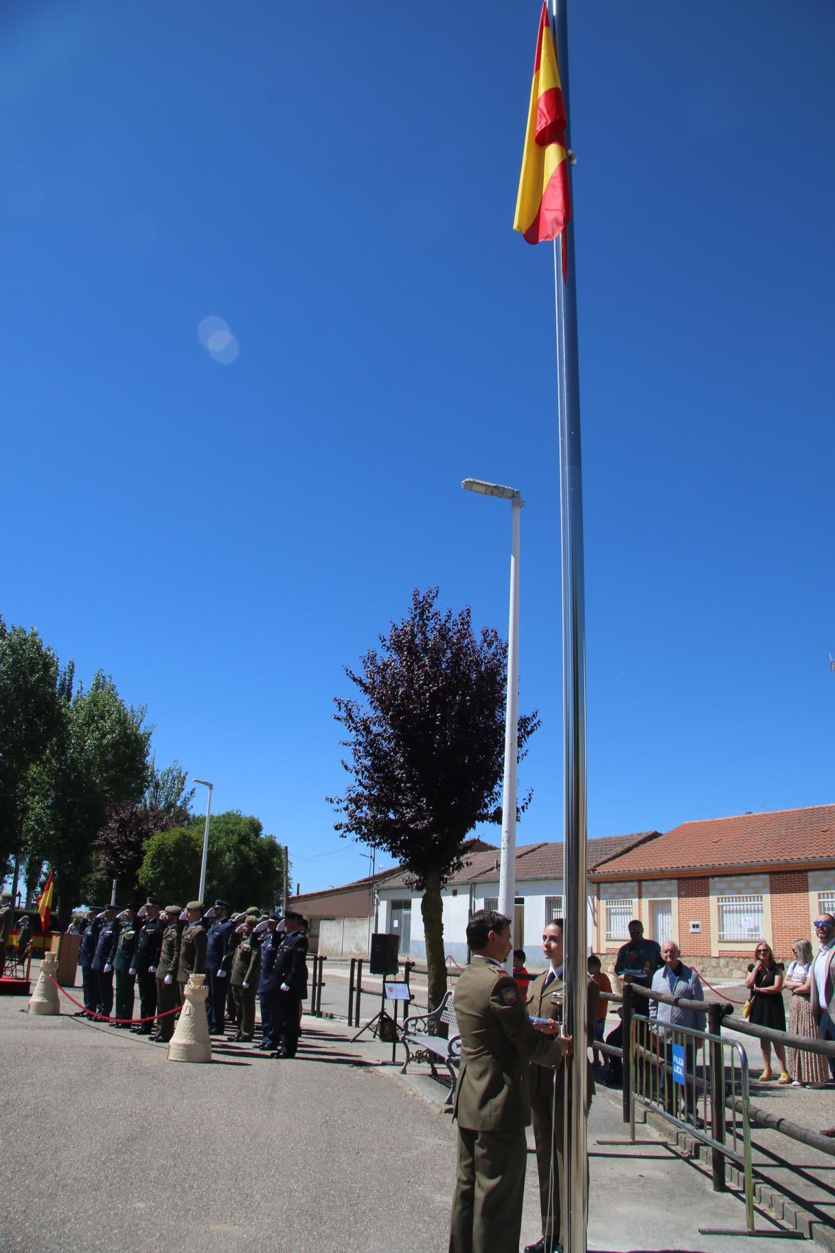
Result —
<instances>
[{"instance_id":1,"label":"low rounded green tree behind the small distant street lamp","mask_svg":"<svg viewBox=\"0 0 835 1253\"><path fill-rule=\"evenodd\" d=\"M139 870L143 887L175 903L197 896L200 885L205 819L151 836ZM239 809L213 814L209 822L205 901L218 897L234 908L274 908L284 888L284 857L259 818Z\"/></svg>"}]
</instances>

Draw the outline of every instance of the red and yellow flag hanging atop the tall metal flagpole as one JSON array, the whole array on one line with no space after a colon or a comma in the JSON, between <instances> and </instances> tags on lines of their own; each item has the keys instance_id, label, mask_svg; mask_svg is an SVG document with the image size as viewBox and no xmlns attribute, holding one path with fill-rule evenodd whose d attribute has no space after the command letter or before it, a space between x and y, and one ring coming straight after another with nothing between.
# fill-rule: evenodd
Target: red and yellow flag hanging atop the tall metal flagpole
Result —
<instances>
[{"instance_id":1,"label":"red and yellow flag hanging atop the tall metal flagpole","mask_svg":"<svg viewBox=\"0 0 835 1253\"><path fill-rule=\"evenodd\" d=\"M516 198L513 229L528 243L545 243L562 234L562 274L568 273L565 228L571 218L566 105L562 99L557 50L553 46L547 5L542 5L536 41L531 105L525 133L522 173Z\"/></svg>"}]
</instances>

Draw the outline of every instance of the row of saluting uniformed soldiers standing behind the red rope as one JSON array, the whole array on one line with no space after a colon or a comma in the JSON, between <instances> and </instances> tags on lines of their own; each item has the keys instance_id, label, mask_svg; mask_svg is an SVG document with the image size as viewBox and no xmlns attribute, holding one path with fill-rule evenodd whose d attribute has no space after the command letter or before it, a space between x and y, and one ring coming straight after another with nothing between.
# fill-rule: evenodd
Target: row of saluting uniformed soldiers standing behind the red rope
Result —
<instances>
[{"instance_id":1,"label":"row of saluting uniformed soldiers standing behind the red rope","mask_svg":"<svg viewBox=\"0 0 835 1253\"><path fill-rule=\"evenodd\" d=\"M260 1049L293 1058L298 1048L302 1001L307 996L307 922L288 910L262 915L255 906L233 915L228 901L210 910L202 901L160 907L149 896L140 910L116 912L110 905L90 911L81 935L79 966L84 1010L79 1016L111 1017L154 1044L174 1034L177 1009L192 975L205 975L209 1032L254 1041L255 997L260 999ZM139 991L139 1016L134 995Z\"/></svg>"}]
</instances>

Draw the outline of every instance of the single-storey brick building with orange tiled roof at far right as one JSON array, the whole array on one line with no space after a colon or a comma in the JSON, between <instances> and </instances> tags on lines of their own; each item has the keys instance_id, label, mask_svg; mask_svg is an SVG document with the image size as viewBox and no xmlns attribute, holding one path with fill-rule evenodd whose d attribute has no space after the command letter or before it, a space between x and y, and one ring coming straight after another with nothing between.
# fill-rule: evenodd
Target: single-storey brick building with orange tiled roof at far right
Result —
<instances>
[{"instance_id":1,"label":"single-storey brick building with orange tiled roof at far right","mask_svg":"<svg viewBox=\"0 0 835 1253\"><path fill-rule=\"evenodd\" d=\"M780 960L835 911L835 806L684 822L590 872L597 952L612 959L631 917L710 976L745 971L766 940Z\"/></svg>"}]
</instances>

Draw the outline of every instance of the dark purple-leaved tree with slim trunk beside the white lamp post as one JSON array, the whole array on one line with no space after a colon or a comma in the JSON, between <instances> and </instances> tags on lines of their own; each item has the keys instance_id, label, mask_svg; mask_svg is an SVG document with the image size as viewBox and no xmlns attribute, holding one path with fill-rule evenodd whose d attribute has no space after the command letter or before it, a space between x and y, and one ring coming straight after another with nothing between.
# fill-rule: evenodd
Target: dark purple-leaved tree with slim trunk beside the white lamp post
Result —
<instances>
[{"instance_id":1,"label":"dark purple-leaved tree with slim trunk beside the white lamp post","mask_svg":"<svg viewBox=\"0 0 835 1253\"><path fill-rule=\"evenodd\" d=\"M507 645L469 608L436 605L438 589L412 593L412 608L381 649L346 674L361 700L336 698L348 738L343 767L352 782L328 797L341 834L383 848L422 890L429 1005L447 987L441 890L464 862L464 841L479 822L501 822ZM540 719L518 719L518 757ZM530 793L520 811L527 808Z\"/></svg>"}]
</instances>

